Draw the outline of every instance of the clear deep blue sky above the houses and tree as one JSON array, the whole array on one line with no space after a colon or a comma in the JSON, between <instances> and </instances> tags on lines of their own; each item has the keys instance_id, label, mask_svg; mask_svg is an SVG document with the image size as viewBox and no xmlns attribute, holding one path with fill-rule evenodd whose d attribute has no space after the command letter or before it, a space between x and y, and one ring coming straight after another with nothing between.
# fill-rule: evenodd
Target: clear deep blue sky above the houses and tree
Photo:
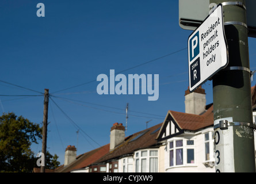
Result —
<instances>
[{"instance_id":1,"label":"clear deep blue sky above the houses and tree","mask_svg":"<svg viewBox=\"0 0 256 184\"><path fill-rule=\"evenodd\" d=\"M45 17L36 16L40 2ZM178 0L1 0L0 24L0 80L9 82L0 82L0 94L40 95L35 91L49 89L47 148L62 164L67 145L78 147L79 155L108 144L113 123L125 125L127 103L127 136L146 129L146 121L151 120L148 127L159 124L167 110L185 111L184 48L192 31L178 25ZM251 70L256 70L256 39L249 38L249 44ZM158 101L142 94L98 95L97 76L110 69L126 70L121 72L126 76L159 74ZM202 87L212 103L212 82ZM0 99L1 113L43 121L43 96ZM35 154L40 150L41 142L33 145Z\"/></svg>"}]
</instances>

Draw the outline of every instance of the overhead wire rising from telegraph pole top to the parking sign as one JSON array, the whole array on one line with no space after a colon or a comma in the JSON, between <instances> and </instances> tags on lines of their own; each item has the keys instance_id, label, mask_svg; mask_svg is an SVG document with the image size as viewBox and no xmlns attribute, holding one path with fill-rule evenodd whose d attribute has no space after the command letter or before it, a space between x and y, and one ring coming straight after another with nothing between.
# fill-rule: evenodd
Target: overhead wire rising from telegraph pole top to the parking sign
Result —
<instances>
[{"instance_id":1,"label":"overhead wire rising from telegraph pole top to the parking sign","mask_svg":"<svg viewBox=\"0 0 256 184\"><path fill-rule=\"evenodd\" d=\"M138 64L138 65L133 66L133 67L131 67L131 68L127 68L127 69L125 69L125 70L116 72L116 74L120 74L121 72L125 72L125 71L128 71L128 70L132 70L133 68L137 68L137 67L143 66L143 65L145 65L145 64L155 62L156 60L163 59L163 58L165 58L165 57L167 57L167 56L170 56L170 55L174 55L175 53L184 51L185 49L188 49L188 47L179 49L178 51L171 52L171 53L169 53L169 54L167 54L167 55L164 55L164 56L161 56L161 57L157 57L157 58L155 58L155 59L149 60L148 62L145 62L145 63L142 63L142 64ZM109 76L109 75L108 75L108 76ZM76 86L72 86L72 87L67 87L66 89L62 89L62 90L59 90L59 91L55 91L54 93L58 93L58 92L60 92L60 91L66 91L66 90L69 90L69 89L72 89L72 88L75 88L75 87L87 85L87 84L92 83L92 82L95 82L95 81L97 81L97 79L94 79L94 80L89 81L89 82L86 82L86 83L82 83L82 84L80 84L80 85L76 85ZM54 94L54 93L51 93L51 94Z\"/></svg>"}]
</instances>

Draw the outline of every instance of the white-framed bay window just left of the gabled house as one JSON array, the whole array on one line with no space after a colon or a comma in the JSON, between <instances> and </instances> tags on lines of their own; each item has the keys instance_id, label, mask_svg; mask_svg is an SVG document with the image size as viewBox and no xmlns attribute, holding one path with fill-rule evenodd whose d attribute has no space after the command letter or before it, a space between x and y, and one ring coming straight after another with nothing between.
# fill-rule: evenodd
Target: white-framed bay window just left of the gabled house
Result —
<instances>
[{"instance_id":1,"label":"white-framed bay window just left of the gabled house","mask_svg":"<svg viewBox=\"0 0 256 184\"><path fill-rule=\"evenodd\" d=\"M143 150L135 153L136 173L158 172L158 150Z\"/></svg>"}]
</instances>

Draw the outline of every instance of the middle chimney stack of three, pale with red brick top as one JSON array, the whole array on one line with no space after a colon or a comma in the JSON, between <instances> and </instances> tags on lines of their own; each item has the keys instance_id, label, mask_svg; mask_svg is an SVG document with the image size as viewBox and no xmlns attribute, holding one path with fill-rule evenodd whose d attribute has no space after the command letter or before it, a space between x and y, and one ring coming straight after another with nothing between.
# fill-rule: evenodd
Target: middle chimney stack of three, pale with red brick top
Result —
<instances>
[{"instance_id":1,"label":"middle chimney stack of three, pale with red brick top","mask_svg":"<svg viewBox=\"0 0 256 184\"><path fill-rule=\"evenodd\" d=\"M123 143L125 128L122 123L114 123L110 129L110 150L113 150L117 145Z\"/></svg>"}]
</instances>

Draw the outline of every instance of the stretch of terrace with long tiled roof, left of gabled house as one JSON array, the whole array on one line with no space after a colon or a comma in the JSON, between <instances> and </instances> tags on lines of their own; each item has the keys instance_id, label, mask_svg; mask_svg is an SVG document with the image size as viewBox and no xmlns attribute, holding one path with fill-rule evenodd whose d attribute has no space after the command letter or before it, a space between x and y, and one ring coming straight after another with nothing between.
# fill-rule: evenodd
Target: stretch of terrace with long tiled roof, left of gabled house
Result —
<instances>
[{"instance_id":1,"label":"stretch of terrace with long tiled roof, left of gabled house","mask_svg":"<svg viewBox=\"0 0 256 184\"><path fill-rule=\"evenodd\" d=\"M57 168L56 172L159 172L160 144L155 137L161 125L125 137L123 124L116 122L110 129L109 144L80 155L71 163L66 160L74 154L68 153L70 147L67 147L64 165ZM75 149L72 152L75 153Z\"/></svg>"}]
</instances>

